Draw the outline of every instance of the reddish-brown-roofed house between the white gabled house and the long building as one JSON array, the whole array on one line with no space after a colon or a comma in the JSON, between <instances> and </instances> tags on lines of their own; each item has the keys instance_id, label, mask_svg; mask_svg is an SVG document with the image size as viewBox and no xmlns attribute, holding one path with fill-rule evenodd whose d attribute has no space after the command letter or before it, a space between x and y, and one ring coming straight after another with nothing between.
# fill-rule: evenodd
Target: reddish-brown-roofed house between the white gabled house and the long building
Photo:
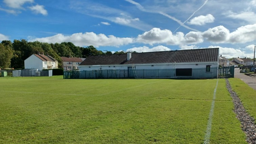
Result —
<instances>
[{"instance_id":1,"label":"reddish-brown-roofed house between the white gabled house and the long building","mask_svg":"<svg viewBox=\"0 0 256 144\"><path fill-rule=\"evenodd\" d=\"M78 65L84 60L84 58L68 58L61 57L62 68L64 70L74 70L79 69Z\"/></svg>"}]
</instances>

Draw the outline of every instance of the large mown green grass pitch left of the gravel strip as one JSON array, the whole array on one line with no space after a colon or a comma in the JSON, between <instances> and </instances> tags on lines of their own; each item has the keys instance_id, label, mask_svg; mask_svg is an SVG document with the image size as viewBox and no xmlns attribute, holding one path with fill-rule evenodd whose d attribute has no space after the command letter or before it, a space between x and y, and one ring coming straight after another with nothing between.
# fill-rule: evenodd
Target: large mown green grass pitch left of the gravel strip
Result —
<instances>
[{"instance_id":1,"label":"large mown green grass pitch left of the gravel strip","mask_svg":"<svg viewBox=\"0 0 256 144\"><path fill-rule=\"evenodd\" d=\"M217 80L0 78L0 143L203 143ZM211 143L246 143L219 80Z\"/></svg>"}]
</instances>

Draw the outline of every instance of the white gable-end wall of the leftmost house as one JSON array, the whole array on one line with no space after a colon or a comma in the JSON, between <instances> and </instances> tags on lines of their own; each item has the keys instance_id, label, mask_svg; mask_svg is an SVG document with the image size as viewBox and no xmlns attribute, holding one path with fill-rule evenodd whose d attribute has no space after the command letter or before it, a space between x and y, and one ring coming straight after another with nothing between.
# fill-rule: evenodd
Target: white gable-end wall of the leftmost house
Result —
<instances>
[{"instance_id":1,"label":"white gable-end wall of the leftmost house","mask_svg":"<svg viewBox=\"0 0 256 144\"><path fill-rule=\"evenodd\" d=\"M35 55L31 55L30 57L25 59L24 60L24 66L25 66L25 69L39 69L39 70L42 70L43 67L45 69L47 69L47 63L44 64L44 61L42 61L41 59L39 59Z\"/></svg>"}]
</instances>

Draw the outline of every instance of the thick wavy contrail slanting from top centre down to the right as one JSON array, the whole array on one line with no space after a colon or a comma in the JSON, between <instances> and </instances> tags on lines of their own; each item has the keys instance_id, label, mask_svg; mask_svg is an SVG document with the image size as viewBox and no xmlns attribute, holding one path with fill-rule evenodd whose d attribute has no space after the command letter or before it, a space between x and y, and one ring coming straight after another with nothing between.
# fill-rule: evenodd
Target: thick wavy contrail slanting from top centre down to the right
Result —
<instances>
[{"instance_id":1,"label":"thick wavy contrail slanting from top centre down to the right","mask_svg":"<svg viewBox=\"0 0 256 144\"><path fill-rule=\"evenodd\" d=\"M180 20L176 19L176 18L173 17L173 16L170 16L170 15L165 14L165 13L160 12L160 11L149 11L149 10L145 9L142 5L140 5L139 3L137 3L137 2L135 2L135 1L133 1L133 0L125 0L125 1L130 2L130 3L134 4L134 5L136 5L136 6L139 8L140 11L147 12L147 13L158 13L158 14L161 14L161 15L163 15L163 16L165 16L165 17L168 17L168 18L170 18L170 19L176 21L177 23L179 23L181 26L183 26L183 27L185 27L185 28L188 28L188 29L194 30L194 31L196 31L196 32L199 32L199 30L196 30L196 29L190 28L189 26L184 25L184 23L182 23ZM199 9L198 9L198 10L199 10ZM198 10L197 10L197 11L198 11ZM176 31L176 30L175 30L175 31Z\"/></svg>"}]
</instances>

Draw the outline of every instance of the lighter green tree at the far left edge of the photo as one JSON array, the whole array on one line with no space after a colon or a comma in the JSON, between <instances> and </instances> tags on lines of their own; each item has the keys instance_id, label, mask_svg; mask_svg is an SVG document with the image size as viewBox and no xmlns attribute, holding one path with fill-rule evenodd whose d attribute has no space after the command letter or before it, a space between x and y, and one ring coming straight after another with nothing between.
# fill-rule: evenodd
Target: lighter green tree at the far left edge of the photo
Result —
<instances>
[{"instance_id":1,"label":"lighter green tree at the far left edge of the photo","mask_svg":"<svg viewBox=\"0 0 256 144\"><path fill-rule=\"evenodd\" d=\"M11 58L13 57L13 50L8 46L0 43L0 67L8 68L11 66Z\"/></svg>"}]
</instances>

